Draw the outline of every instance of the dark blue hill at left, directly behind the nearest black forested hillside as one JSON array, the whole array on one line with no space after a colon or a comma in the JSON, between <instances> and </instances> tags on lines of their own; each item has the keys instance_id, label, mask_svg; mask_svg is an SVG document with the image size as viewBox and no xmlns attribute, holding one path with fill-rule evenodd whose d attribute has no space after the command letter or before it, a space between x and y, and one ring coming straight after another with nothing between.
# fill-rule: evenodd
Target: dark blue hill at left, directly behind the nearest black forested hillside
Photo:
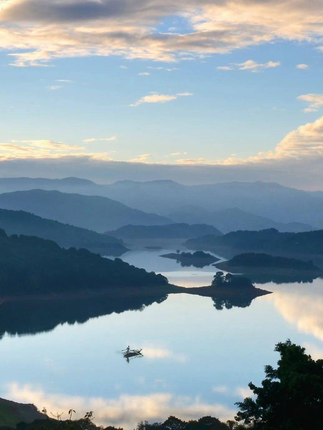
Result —
<instances>
[{"instance_id":1,"label":"dark blue hill at left, directly behind the nearest black forested hillside","mask_svg":"<svg viewBox=\"0 0 323 430\"><path fill-rule=\"evenodd\" d=\"M122 240L81 227L62 224L24 212L0 209L0 228L7 234L24 234L54 240L64 248L86 248L101 255L119 256L127 251Z\"/></svg>"}]
</instances>

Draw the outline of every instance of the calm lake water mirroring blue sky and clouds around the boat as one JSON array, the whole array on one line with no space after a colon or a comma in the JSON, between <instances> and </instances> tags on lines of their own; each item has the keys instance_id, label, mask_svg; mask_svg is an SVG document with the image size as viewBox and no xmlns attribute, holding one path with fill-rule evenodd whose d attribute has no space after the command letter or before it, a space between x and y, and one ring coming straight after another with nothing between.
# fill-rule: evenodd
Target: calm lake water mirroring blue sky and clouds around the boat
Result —
<instances>
[{"instance_id":1,"label":"calm lake water mirroring blue sky and clouds around the boat","mask_svg":"<svg viewBox=\"0 0 323 430\"><path fill-rule=\"evenodd\" d=\"M122 258L177 285L211 283L214 267L180 267L158 257L171 251ZM6 333L0 340L0 397L46 406L48 413L65 411L62 418L69 408L77 416L92 410L97 424L125 429L168 415L232 418L234 402L248 395L248 382L259 384L263 366L276 364L276 342L291 338L314 358L323 356L323 279L260 287L274 293L223 310L211 298L188 294L124 312L143 301L65 303L50 310L1 305L0 333ZM86 321L97 314L102 316ZM144 357L128 364L119 352L128 344L142 347Z\"/></svg>"}]
</instances>

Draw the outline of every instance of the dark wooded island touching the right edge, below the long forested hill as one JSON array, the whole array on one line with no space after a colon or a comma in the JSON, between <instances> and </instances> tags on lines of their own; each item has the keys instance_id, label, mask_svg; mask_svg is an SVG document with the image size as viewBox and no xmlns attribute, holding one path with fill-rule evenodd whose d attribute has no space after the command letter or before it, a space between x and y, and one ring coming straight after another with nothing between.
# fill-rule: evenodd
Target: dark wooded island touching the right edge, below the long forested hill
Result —
<instances>
[{"instance_id":1,"label":"dark wooded island touching the right edge, below the long forested hill","mask_svg":"<svg viewBox=\"0 0 323 430\"><path fill-rule=\"evenodd\" d=\"M275 276L312 276L323 275L323 270L314 266L313 261L296 258L276 257L269 254L249 252L234 256L231 260L214 264L218 269L233 273Z\"/></svg>"}]
</instances>

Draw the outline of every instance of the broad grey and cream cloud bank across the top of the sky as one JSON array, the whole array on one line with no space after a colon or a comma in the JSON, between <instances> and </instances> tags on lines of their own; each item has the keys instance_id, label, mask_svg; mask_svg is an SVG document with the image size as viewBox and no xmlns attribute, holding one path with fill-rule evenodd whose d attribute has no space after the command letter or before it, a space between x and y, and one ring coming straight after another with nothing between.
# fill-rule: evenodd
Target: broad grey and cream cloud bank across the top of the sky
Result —
<instances>
[{"instance_id":1,"label":"broad grey and cream cloud bank across the top of the sky","mask_svg":"<svg viewBox=\"0 0 323 430\"><path fill-rule=\"evenodd\" d=\"M184 31L159 31L169 16L184 19ZM89 55L193 60L277 40L316 43L323 36L320 0L6 0L0 21L0 47L18 67Z\"/></svg>"}]
</instances>

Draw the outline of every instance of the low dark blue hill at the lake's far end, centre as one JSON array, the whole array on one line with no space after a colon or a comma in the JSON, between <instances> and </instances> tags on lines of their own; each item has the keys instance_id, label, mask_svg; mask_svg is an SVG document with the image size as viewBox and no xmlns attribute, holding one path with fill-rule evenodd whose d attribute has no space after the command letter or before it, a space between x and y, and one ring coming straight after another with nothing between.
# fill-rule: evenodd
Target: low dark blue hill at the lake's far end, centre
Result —
<instances>
[{"instance_id":1,"label":"low dark blue hill at the lake's far end, centre","mask_svg":"<svg viewBox=\"0 0 323 430\"><path fill-rule=\"evenodd\" d=\"M110 236L127 239L146 239L146 238L190 238L214 234L221 236L221 231L206 224L168 224L168 225L125 225L118 230L107 231Z\"/></svg>"}]
</instances>

